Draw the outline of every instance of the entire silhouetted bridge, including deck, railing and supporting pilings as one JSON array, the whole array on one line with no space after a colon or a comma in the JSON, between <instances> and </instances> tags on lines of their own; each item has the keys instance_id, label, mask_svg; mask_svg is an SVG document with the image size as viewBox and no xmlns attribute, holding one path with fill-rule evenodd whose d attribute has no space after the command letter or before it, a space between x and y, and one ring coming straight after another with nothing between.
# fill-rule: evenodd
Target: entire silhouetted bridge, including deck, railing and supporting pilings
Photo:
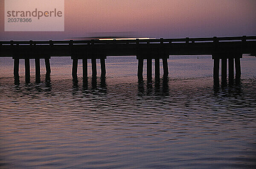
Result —
<instances>
[{"instance_id":1,"label":"entire silhouetted bridge, including deck, railing and supporting pilings","mask_svg":"<svg viewBox=\"0 0 256 169\"><path fill-rule=\"evenodd\" d=\"M40 76L40 59L45 60L46 73L51 72L51 56L71 56L72 76L77 77L78 59L82 59L83 76L87 77L87 59L91 59L92 76L97 75L96 59L100 59L101 76L105 76L106 56L137 56L138 77L143 76L143 60L147 60L147 77L152 76L154 59L155 76L160 76L160 59L163 62L163 76L168 76L169 55L212 55L213 77L229 78L241 75L242 54L256 55L256 37L212 37L181 39L135 39L135 40L70 40L70 41L1 41L0 56L14 59L14 76L19 76L19 59L25 59L25 76L30 76L29 59L35 59L35 74Z\"/></svg>"}]
</instances>

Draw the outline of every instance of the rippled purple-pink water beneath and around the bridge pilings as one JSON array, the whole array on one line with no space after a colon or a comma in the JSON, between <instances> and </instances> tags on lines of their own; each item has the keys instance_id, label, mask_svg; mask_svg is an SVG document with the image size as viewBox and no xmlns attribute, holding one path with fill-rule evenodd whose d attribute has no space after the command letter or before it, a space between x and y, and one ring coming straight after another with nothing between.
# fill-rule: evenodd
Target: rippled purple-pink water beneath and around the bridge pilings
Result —
<instances>
[{"instance_id":1,"label":"rippled purple-pink water beneath and around the bridge pilings","mask_svg":"<svg viewBox=\"0 0 256 169\"><path fill-rule=\"evenodd\" d=\"M52 57L41 82L31 60L29 83L23 60L15 81L0 58L0 168L256 167L256 58L219 84L211 56L196 58L172 56L159 80L138 80L136 57L108 57L105 79L90 62L82 79L79 62L76 81L70 57Z\"/></svg>"}]
</instances>

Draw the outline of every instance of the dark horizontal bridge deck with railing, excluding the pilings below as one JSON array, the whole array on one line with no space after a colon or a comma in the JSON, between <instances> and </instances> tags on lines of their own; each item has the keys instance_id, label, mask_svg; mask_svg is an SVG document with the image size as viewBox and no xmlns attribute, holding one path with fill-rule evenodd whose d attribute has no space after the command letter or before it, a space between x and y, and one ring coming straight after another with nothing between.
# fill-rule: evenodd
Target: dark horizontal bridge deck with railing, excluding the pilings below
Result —
<instances>
[{"instance_id":1,"label":"dark horizontal bridge deck with railing, excluding the pilings below","mask_svg":"<svg viewBox=\"0 0 256 169\"><path fill-rule=\"evenodd\" d=\"M101 59L106 56L143 56L163 59L168 55L256 54L256 36L134 40L0 41L0 57L44 59L71 56ZM227 57L227 56L225 56ZM221 59L221 58L219 58Z\"/></svg>"}]
</instances>

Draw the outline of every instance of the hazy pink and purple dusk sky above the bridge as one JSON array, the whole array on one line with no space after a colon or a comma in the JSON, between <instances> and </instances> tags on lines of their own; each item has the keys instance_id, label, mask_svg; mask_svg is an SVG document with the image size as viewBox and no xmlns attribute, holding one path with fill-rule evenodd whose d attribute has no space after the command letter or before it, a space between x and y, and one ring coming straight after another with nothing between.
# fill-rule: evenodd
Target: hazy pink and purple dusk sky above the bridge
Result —
<instances>
[{"instance_id":1,"label":"hazy pink and purple dusk sky above the bridge","mask_svg":"<svg viewBox=\"0 0 256 169\"><path fill-rule=\"evenodd\" d=\"M7 32L0 0L0 40L119 31L151 38L256 35L256 0L65 0L64 6L64 31Z\"/></svg>"}]
</instances>

